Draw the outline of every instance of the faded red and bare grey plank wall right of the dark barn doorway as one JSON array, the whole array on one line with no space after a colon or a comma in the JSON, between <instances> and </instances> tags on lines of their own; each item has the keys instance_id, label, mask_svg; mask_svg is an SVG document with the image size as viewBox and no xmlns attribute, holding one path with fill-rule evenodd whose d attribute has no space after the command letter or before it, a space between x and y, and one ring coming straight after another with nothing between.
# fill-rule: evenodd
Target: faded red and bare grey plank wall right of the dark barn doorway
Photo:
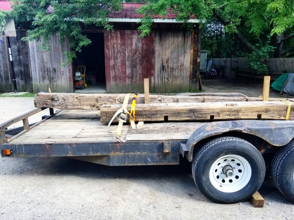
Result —
<instances>
[{"instance_id":1,"label":"faded red and bare grey plank wall right of the dark barn doorway","mask_svg":"<svg viewBox=\"0 0 294 220\"><path fill-rule=\"evenodd\" d=\"M136 30L104 32L107 92L143 92L143 80L154 76L154 91L189 89L191 33Z\"/></svg>"}]
</instances>

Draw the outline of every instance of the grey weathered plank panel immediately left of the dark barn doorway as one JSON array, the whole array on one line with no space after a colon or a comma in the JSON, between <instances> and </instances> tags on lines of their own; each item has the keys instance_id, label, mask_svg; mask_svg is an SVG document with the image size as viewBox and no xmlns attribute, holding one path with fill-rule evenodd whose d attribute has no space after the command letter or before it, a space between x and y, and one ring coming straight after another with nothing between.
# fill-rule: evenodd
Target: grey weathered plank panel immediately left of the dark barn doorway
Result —
<instances>
[{"instance_id":1,"label":"grey weathered plank panel immediately left of the dark barn doorway","mask_svg":"<svg viewBox=\"0 0 294 220\"><path fill-rule=\"evenodd\" d=\"M52 92L73 92L72 64L62 67L69 43L59 41L59 36L52 35L48 52L40 50L42 41L29 41L33 92L48 91L49 87Z\"/></svg>"}]
</instances>

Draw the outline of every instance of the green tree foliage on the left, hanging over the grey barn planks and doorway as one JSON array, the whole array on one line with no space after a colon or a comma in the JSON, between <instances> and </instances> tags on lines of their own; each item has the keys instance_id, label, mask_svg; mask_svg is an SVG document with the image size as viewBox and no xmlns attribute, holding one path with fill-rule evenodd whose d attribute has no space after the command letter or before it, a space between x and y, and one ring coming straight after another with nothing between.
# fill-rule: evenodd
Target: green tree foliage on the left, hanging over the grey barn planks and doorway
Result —
<instances>
[{"instance_id":1,"label":"green tree foliage on the left, hanging over the grey barn planks and doorway","mask_svg":"<svg viewBox=\"0 0 294 220\"><path fill-rule=\"evenodd\" d=\"M69 37L71 51L67 56L71 61L77 51L91 43L82 34L82 27L94 25L112 29L106 16L111 10L120 10L121 6L120 0L15 0L11 15L19 27L31 22L33 29L23 40L42 38L42 50L49 50L52 34L57 33L62 41Z\"/></svg>"}]
</instances>

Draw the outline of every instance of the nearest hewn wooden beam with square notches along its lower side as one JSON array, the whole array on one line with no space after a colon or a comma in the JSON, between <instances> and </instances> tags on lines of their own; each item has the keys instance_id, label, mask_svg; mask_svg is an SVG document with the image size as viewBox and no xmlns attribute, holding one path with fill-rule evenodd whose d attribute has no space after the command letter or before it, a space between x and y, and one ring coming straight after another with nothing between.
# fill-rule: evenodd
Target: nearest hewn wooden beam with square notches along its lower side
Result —
<instances>
[{"instance_id":1,"label":"nearest hewn wooden beam with square notches along its lower side","mask_svg":"<svg viewBox=\"0 0 294 220\"><path fill-rule=\"evenodd\" d=\"M290 119L294 119L294 103ZM109 122L122 105L105 105L100 109L101 122ZM131 105L128 105L130 111ZM282 101L152 103L136 104L136 121L197 121L238 119L285 119L288 105Z\"/></svg>"}]
</instances>

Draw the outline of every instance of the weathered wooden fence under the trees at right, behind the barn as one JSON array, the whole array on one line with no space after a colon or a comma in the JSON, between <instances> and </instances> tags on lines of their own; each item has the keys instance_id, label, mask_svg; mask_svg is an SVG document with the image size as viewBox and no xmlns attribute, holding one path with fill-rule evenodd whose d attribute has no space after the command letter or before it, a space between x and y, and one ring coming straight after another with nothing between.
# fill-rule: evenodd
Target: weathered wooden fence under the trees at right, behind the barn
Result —
<instances>
[{"instance_id":1,"label":"weathered wooden fence under the trees at right, behind the barn","mask_svg":"<svg viewBox=\"0 0 294 220\"><path fill-rule=\"evenodd\" d=\"M208 59L209 60L209 59ZM269 75L277 79L283 72L294 72L294 58L270 58L264 60L268 66ZM264 74L256 74L245 58L212 58L215 68L224 67L224 77L235 79L237 76L263 78ZM236 69L236 71L234 71Z\"/></svg>"}]
</instances>

